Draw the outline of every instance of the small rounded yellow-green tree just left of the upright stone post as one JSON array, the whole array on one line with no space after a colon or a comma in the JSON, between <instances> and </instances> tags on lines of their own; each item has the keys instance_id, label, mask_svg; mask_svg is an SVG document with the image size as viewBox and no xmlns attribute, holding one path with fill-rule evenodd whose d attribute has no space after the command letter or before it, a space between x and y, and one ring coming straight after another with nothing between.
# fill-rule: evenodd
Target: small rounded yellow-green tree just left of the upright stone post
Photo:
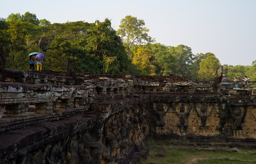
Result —
<instances>
[{"instance_id":1,"label":"small rounded yellow-green tree just left of the upright stone post","mask_svg":"<svg viewBox=\"0 0 256 164\"><path fill-rule=\"evenodd\" d=\"M199 80L212 80L215 77L216 68L220 65L218 58L209 56L206 60L199 63Z\"/></svg>"}]
</instances>

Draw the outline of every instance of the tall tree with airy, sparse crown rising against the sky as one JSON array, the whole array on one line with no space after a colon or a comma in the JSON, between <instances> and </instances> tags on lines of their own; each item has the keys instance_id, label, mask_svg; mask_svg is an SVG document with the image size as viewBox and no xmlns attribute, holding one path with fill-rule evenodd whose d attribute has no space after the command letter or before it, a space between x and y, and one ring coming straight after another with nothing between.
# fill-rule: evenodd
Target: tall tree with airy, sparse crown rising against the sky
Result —
<instances>
[{"instance_id":1,"label":"tall tree with airy, sparse crown rising against the sky","mask_svg":"<svg viewBox=\"0 0 256 164\"><path fill-rule=\"evenodd\" d=\"M149 30L144 26L144 20L137 19L137 17L131 15L127 15L121 20L117 34L123 38L128 54L130 53L131 45L154 42L154 39L147 34Z\"/></svg>"}]
</instances>

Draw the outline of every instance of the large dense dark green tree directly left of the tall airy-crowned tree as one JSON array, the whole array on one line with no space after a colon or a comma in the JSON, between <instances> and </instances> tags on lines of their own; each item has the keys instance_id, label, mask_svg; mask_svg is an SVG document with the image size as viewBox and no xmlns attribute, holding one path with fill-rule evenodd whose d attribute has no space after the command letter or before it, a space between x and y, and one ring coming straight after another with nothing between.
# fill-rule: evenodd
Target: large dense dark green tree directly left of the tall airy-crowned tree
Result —
<instances>
[{"instance_id":1,"label":"large dense dark green tree directly left of the tall airy-crowned tree","mask_svg":"<svg viewBox=\"0 0 256 164\"><path fill-rule=\"evenodd\" d=\"M101 61L100 64L98 63L101 72L98 73L119 74L127 68L130 62L122 40L111 27L109 19L103 22L96 20L94 24L91 24L83 44L87 54Z\"/></svg>"}]
</instances>

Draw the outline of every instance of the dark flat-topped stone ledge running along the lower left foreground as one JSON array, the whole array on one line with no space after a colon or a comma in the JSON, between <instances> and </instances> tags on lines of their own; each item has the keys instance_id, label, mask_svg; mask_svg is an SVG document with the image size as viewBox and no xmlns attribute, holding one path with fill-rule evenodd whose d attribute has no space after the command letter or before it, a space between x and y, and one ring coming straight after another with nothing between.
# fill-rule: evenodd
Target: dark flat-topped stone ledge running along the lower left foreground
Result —
<instances>
[{"instance_id":1,"label":"dark flat-topped stone ledge running along the lower left foreground","mask_svg":"<svg viewBox=\"0 0 256 164\"><path fill-rule=\"evenodd\" d=\"M68 135L93 128L96 115L76 115L54 123L38 123L33 126L0 134L0 159L16 158L39 147L60 141Z\"/></svg>"}]
</instances>

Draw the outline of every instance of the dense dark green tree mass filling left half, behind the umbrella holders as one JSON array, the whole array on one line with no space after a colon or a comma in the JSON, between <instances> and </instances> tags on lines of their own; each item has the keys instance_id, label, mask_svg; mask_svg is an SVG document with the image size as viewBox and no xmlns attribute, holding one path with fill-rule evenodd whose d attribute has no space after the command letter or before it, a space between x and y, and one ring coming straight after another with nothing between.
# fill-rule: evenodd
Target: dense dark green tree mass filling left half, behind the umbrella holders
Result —
<instances>
[{"instance_id":1,"label":"dense dark green tree mass filling left half, behind the umbrella holders","mask_svg":"<svg viewBox=\"0 0 256 164\"><path fill-rule=\"evenodd\" d=\"M0 44L6 53L7 69L28 70L28 54L33 51L44 53L43 68L55 71L66 71L68 58L76 73L118 74L130 62L108 19L92 24L50 24L29 12L19 20L11 19L14 16L9 16L10 21L0 21Z\"/></svg>"}]
</instances>

